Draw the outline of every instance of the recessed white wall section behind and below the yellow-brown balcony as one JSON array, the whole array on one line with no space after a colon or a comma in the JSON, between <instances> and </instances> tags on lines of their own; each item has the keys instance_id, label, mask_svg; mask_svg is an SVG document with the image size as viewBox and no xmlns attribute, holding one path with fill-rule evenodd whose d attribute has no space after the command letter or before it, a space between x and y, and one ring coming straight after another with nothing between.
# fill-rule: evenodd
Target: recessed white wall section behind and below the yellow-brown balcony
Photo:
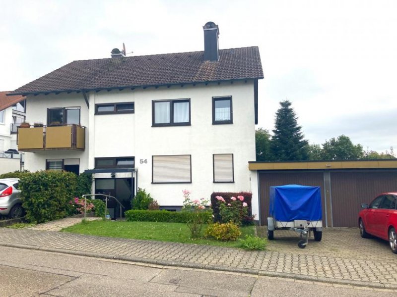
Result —
<instances>
[{"instance_id":1,"label":"recessed white wall section behind and below the yellow-brown balcony","mask_svg":"<svg viewBox=\"0 0 397 297\"><path fill-rule=\"evenodd\" d=\"M87 127L85 131L85 150L44 150L25 153L25 169L29 171L45 170L46 159L79 158L80 172L88 168L88 107L81 93L60 95L28 96L26 104L26 121L47 124L47 108L80 107L80 123Z\"/></svg>"}]
</instances>

